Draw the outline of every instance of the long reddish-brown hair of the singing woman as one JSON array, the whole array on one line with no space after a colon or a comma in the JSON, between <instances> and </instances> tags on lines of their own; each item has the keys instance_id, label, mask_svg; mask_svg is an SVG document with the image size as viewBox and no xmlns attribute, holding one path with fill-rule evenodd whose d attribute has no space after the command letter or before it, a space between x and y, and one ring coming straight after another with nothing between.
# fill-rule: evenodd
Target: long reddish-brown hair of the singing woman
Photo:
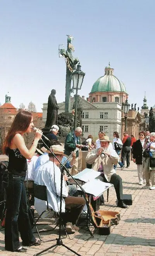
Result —
<instances>
[{"instance_id":1,"label":"long reddish-brown hair of the singing woman","mask_svg":"<svg viewBox=\"0 0 155 256\"><path fill-rule=\"evenodd\" d=\"M26 130L29 127L29 124L31 123L31 119L32 114L25 110L19 112L15 116L14 121L10 127L10 130L3 144L3 154L7 153L7 148L10 147L12 139L14 138L15 134L21 134L23 132L26 132Z\"/></svg>"}]
</instances>

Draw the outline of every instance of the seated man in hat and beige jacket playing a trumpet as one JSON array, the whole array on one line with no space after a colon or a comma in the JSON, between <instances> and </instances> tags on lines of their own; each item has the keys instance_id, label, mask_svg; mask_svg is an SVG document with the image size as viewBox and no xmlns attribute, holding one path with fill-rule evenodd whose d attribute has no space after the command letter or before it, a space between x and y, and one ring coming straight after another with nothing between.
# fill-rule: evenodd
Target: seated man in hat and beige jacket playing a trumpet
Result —
<instances>
[{"instance_id":1,"label":"seated man in hat and beige jacket playing a trumpet","mask_svg":"<svg viewBox=\"0 0 155 256\"><path fill-rule=\"evenodd\" d=\"M101 147L92 150L86 157L86 162L92 164L92 169L101 171L102 174L97 177L103 182L109 182L114 185L117 196L117 207L127 208L123 202L122 178L116 174L114 164L119 162L119 156L113 148L109 146L111 142L108 136L100 138ZM103 153L103 154L102 154Z\"/></svg>"}]
</instances>

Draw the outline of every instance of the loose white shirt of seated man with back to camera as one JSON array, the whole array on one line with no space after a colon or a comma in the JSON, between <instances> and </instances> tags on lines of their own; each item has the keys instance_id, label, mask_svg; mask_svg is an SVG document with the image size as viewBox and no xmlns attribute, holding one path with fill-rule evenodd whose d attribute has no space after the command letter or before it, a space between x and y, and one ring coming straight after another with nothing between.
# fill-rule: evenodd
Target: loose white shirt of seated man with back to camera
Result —
<instances>
[{"instance_id":1,"label":"loose white shirt of seated man with back to camera","mask_svg":"<svg viewBox=\"0 0 155 256\"><path fill-rule=\"evenodd\" d=\"M38 185L45 185L47 187L49 208L53 209L55 212L59 212L61 183L61 172L59 167L57 167L52 161L48 161L45 164L39 166L36 169L36 177L34 179L34 183ZM62 196L68 196L64 179L62 180ZM41 214L41 212L47 209L46 201L34 197L34 207L38 214ZM64 198L62 198L62 212L65 212Z\"/></svg>"}]
</instances>

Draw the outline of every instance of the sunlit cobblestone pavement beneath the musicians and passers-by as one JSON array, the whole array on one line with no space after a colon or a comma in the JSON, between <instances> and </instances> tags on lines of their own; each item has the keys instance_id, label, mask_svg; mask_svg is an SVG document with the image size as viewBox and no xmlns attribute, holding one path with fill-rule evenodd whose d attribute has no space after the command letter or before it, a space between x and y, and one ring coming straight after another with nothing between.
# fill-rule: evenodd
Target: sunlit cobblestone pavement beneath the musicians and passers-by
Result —
<instances>
[{"instance_id":1,"label":"sunlit cobblestone pavement beneath the musicians and passers-by","mask_svg":"<svg viewBox=\"0 0 155 256\"><path fill-rule=\"evenodd\" d=\"M108 236L98 235L96 232L93 238L89 232L80 229L74 235L63 240L64 244L71 247L82 256L155 256L155 190L141 189L138 185L136 165L131 162L130 169L118 168L117 173L122 177L124 194L132 194L133 205L127 209L117 208L115 205L114 188L109 190L109 201L101 207L105 210L121 212L121 221L117 226L111 227ZM107 193L105 192L105 198ZM53 219L50 219L53 221ZM47 228L47 226L46 226ZM41 233L43 240L58 237L58 229L52 232ZM4 250L4 231L0 231L0 256L14 256L22 254L32 256L41 250L55 244L55 241L41 243L40 246L28 247L24 254L7 252ZM44 252L41 255L76 255L65 247L58 246Z\"/></svg>"}]
</instances>

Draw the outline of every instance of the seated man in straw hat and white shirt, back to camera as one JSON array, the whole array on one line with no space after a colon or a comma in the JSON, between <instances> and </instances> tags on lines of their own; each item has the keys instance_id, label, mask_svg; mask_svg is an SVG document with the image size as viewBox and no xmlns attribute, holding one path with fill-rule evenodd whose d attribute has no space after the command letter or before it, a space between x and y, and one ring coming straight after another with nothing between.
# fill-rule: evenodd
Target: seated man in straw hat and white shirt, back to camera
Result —
<instances>
[{"instance_id":1,"label":"seated man in straw hat and white shirt, back to camera","mask_svg":"<svg viewBox=\"0 0 155 256\"><path fill-rule=\"evenodd\" d=\"M50 148L56 155L59 161L62 161L64 156L64 148L60 145L53 145ZM59 169L59 161L47 151L49 161L36 169L36 175L34 183L39 185L46 185L48 195L48 205L55 212L60 211L60 182L61 171ZM85 200L82 197L68 196L65 182L62 182L62 218L67 233L75 233L79 228L76 226L76 222L81 214L81 211L85 205ZM46 210L46 202L38 198L34 198L34 207L36 211L41 214L43 210Z\"/></svg>"}]
</instances>

